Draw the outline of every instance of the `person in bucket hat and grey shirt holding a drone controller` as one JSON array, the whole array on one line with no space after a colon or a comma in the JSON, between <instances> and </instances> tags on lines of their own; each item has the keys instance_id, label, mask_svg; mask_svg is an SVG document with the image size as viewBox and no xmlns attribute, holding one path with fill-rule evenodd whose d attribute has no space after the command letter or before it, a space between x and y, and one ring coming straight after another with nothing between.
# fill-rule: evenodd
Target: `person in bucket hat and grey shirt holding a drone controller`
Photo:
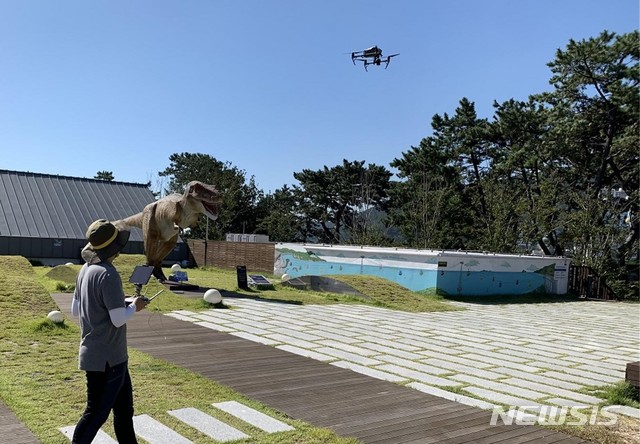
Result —
<instances>
[{"instance_id":1,"label":"person in bucket hat and grey shirt holding a drone controller","mask_svg":"<svg viewBox=\"0 0 640 444\"><path fill-rule=\"evenodd\" d=\"M122 280L113 265L129 240L129 231L106 219L89 225L86 262L76 280L71 302L80 318L78 367L87 379L87 405L73 433L73 444L89 444L113 410L113 427L120 444L136 444L133 428L133 387L128 368L127 321L148 301L125 301Z\"/></svg>"}]
</instances>

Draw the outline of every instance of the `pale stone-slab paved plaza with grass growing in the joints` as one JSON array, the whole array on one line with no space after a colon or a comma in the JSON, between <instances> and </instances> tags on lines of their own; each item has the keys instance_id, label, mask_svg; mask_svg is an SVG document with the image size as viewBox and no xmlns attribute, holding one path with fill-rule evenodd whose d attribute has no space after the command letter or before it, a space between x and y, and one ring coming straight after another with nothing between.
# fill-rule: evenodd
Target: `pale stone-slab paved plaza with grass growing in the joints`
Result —
<instances>
[{"instance_id":1,"label":"pale stone-slab paved plaza with grass growing in the joints","mask_svg":"<svg viewBox=\"0 0 640 444\"><path fill-rule=\"evenodd\" d=\"M233 310L171 315L483 408L597 404L601 400L584 389L624 379L626 363L638 360L640 351L640 318L625 304L455 302L466 310L406 313L233 298L225 303Z\"/></svg>"}]
</instances>

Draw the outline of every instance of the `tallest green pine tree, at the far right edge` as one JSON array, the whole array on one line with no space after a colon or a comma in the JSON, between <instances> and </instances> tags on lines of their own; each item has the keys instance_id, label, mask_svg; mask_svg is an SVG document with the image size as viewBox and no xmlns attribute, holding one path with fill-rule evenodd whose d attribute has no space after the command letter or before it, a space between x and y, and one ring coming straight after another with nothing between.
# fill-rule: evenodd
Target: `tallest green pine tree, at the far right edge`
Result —
<instances>
[{"instance_id":1,"label":"tallest green pine tree, at the far right edge","mask_svg":"<svg viewBox=\"0 0 640 444\"><path fill-rule=\"evenodd\" d=\"M610 275L638 255L639 56L637 31L570 40L549 63L554 91L539 96L550 109L548 146L571 190L574 256Z\"/></svg>"}]
</instances>

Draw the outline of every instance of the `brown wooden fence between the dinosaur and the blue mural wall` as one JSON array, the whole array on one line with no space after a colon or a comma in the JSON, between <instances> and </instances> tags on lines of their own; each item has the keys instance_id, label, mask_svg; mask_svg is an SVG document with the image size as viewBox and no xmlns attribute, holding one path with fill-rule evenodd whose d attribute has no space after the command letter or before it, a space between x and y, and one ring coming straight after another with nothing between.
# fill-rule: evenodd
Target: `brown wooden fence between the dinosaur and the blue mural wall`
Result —
<instances>
[{"instance_id":1,"label":"brown wooden fence between the dinosaur and the blue mural wall","mask_svg":"<svg viewBox=\"0 0 640 444\"><path fill-rule=\"evenodd\" d=\"M244 265L249 271L273 273L276 247L274 243L187 240L189 260L199 267L213 266L235 269Z\"/></svg>"}]
</instances>

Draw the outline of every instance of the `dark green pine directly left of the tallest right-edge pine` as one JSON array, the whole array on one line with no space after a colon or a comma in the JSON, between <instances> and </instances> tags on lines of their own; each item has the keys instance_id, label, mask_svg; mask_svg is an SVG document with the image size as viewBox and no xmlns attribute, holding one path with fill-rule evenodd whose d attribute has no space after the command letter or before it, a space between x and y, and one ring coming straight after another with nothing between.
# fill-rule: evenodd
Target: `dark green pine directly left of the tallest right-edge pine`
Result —
<instances>
[{"instance_id":1,"label":"dark green pine directly left of the tallest right-edge pine","mask_svg":"<svg viewBox=\"0 0 640 444\"><path fill-rule=\"evenodd\" d=\"M545 142L548 115L533 98L528 102L507 100L494 103L494 121L490 124L492 168L488 180L493 188L494 233L513 240L500 250L515 252L518 243L530 250L538 245L545 254L562 254L558 241L563 187ZM496 198L496 194L501 197ZM495 241L500 242L497 236ZM548 243L551 246L547 245Z\"/></svg>"}]
</instances>

